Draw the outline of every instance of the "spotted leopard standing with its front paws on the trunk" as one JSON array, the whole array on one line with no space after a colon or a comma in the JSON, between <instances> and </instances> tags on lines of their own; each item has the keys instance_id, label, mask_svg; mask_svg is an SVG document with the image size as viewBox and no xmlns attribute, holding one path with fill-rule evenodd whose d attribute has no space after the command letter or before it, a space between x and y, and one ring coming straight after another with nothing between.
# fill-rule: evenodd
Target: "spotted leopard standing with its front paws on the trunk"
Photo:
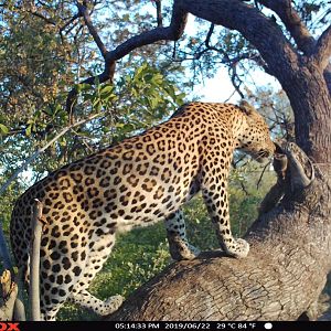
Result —
<instances>
[{"instance_id":1,"label":"spotted leopard standing with its front paws on the trunk","mask_svg":"<svg viewBox=\"0 0 331 331\"><path fill-rule=\"evenodd\" d=\"M254 108L188 103L168 120L50 173L15 202L10 223L13 255L29 284L31 218L42 202L40 297L43 320L64 302L99 316L124 298L99 300L88 291L115 245L116 234L164 221L174 260L193 259L182 205L201 192L220 248L245 258L249 245L235 238L228 212L228 174L235 150L258 162L275 152L268 126Z\"/></svg>"}]
</instances>

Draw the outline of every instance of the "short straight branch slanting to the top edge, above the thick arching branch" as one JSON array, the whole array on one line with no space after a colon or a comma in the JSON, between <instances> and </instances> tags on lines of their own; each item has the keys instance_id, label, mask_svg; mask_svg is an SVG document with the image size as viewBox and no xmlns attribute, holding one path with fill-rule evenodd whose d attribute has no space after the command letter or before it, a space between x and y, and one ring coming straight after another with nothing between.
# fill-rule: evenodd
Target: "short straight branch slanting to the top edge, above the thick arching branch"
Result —
<instances>
[{"instance_id":1,"label":"short straight branch slanting to the top edge, above the thick arching branch","mask_svg":"<svg viewBox=\"0 0 331 331\"><path fill-rule=\"evenodd\" d=\"M291 6L291 0L258 0L259 3L275 11L286 29L289 31L296 44L305 55L313 52L316 40L301 21L299 14Z\"/></svg>"}]
</instances>

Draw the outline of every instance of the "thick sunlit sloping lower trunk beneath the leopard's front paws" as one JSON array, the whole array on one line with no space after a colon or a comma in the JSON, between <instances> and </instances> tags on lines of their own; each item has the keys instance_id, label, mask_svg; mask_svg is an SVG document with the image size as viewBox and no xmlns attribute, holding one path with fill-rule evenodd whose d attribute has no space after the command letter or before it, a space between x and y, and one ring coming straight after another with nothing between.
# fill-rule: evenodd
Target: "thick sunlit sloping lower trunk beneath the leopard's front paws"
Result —
<instances>
[{"instance_id":1,"label":"thick sunlit sloping lower trunk beneath the leopard's front paws","mask_svg":"<svg viewBox=\"0 0 331 331\"><path fill-rule=\"evenodd\" d=\"M287 178L295 173L289 167ZM110 320L297 320L312 308L331 269L331 190L316 168L306 189L261 214L245 259L209 252L171 264L132 293Z\"/></svg>"}]
</instances>

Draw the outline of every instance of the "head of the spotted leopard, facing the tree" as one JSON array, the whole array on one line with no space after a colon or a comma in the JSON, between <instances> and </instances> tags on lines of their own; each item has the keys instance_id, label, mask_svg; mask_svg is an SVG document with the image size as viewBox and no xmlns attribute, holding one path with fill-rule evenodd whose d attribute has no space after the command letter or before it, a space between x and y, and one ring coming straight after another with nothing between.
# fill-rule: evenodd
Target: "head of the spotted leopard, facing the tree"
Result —
<instances>
[{"instance_id":1,"label":"head of the spotted leopard, facing the tree","mask_svg":"<svg viewBox=\"0 0 331 331\"><path fill-rule=\"evenodd\" d=\"M259 163L264 163L274 156L276 146L270 138L270 131L265 119L254 107L247 105L241 105L246 125L238 138L237 148L252 156Z\"/></svg>"}]
</instances>

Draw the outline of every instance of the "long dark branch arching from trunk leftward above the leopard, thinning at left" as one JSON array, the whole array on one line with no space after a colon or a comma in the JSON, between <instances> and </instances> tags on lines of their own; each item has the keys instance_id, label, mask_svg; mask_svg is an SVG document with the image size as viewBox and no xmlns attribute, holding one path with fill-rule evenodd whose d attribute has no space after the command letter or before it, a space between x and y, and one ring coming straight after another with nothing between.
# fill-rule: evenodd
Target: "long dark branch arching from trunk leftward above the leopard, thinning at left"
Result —
<instances>
[{"instance_id":1,"label":"long dark branch arching from trunk leftward above the leopard, thinning at left","mask_svg":"<svg viewBox=\"0 0 331 331\"><path fill-rule=\"evenodd\" d=\"M268 65L268 73L277 77L282 86L287 86L295 78L295 68L299 70L297 52L284 35L281 29L256 8L238 0L175 0L172 8L171 23L168 28L158 26L151 31L142 32L118 45L115 50L107 52L104 72L85 79L83 83L93 85L96 77L100 83L111 79L116 61L138 47L161 40L179 40L184 32L188 13L192 13L211 23L239 31L244 38L256 46ZM264 29L260 29L260 26L264 26ZM278 54L278 56L275 56L275 54ZM77 90L73 88L66 102L68 114L73 113L76 98Z\"/></svg>"}]
</instances>

